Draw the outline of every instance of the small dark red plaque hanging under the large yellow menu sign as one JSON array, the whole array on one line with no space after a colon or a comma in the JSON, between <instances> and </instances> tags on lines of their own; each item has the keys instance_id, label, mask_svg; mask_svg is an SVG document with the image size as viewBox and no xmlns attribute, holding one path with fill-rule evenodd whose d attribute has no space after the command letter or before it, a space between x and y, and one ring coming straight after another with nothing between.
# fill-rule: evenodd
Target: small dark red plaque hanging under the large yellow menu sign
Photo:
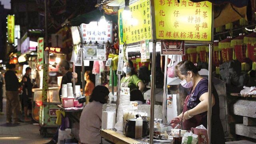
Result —
<instances>
[{"instance_id":1,"label":"small dark red plaque hanging under the large yellow menu sign","mask_svg":"<svg viewBox=\"0 0 256 144\"><path fill-rule=\"evenodd\" d=\"M185 55L184 40L161 40L161 55Z\"/></svg>"}]
</instances>

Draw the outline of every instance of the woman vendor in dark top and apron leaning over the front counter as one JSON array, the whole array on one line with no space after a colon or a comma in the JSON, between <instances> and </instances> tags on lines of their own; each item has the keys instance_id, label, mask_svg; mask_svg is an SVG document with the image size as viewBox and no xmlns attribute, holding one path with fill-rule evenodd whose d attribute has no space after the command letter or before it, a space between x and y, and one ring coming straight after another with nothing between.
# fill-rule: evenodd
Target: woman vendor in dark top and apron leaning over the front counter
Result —
<instances>
[{"instance_id":1,"label":"woman vendor in dark top and apron leaning over the front counter","mask_svg":"<svg viewBox=\"0 0 256 144\"><path fill-rule=\"evenodd\" d=\"M190 88L190 92L184 102L182 114L171 121L172 127L182 123L183 130L190 130L201 124L207 128L208 78L200 76L197 65L188 60L179 62L175 66L175 74L182 80L180 84L184 88ZM220 121L219 98L214 86L211 122L211 143L225 144L224 130Z\"/></svg>"}]
</instances>

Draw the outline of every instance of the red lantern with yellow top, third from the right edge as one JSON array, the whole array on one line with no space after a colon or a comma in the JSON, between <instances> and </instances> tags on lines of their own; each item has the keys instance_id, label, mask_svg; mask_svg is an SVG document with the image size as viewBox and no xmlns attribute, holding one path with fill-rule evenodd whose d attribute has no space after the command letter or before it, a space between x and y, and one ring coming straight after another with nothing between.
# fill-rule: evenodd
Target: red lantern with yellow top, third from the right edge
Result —
<instances>
[{"instance_id":1,"label":"red lantern with yellow top, third from the right edge","mask_svg":"<svg viewBox=\"0 0 256 144\"><path fill-rule=\"evenodd\" d=\"M230 47L231 40L232 38L228 36L226 39L219 42L219 49L221 49L223 62L229 62L230 60L233 60L233 49Z\"/></svg>"}]
</instances>

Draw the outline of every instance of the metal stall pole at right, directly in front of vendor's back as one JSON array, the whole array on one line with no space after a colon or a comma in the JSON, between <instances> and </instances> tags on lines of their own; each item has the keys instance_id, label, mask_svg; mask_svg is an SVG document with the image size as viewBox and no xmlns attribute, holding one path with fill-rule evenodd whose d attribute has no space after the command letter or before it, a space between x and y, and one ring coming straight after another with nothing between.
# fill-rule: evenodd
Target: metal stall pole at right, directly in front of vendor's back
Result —
<instances>
[{"instance_id":1,"label":"metal stall pole at right, directly in front of vendor's back","mask_svg":"<svg viewBox=\"0 0 256 144\"><path fill-rule=\"evenodd\" d=\"M208 112L207 112L207 133L209 144L211 144L211 119L212 119L212 44L209 44L209 83L208 83Z\"/></svg>"}]
</instances>

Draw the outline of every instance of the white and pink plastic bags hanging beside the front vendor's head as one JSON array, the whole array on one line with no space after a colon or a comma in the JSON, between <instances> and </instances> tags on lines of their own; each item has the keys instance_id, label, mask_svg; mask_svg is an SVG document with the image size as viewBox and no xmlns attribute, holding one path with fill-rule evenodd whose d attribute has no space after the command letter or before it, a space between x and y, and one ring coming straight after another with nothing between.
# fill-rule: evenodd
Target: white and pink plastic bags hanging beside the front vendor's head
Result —
<instances>
[{"instance_id":1,"label":"white and pink plastic bags hanging beside the front vendor's head","mask_svg":"<svg viewBox=\"0 0 256 144\"><path fill-rule=\"evenodd\" d=\"M167 76L169 78L175 77L175 66L182 61L182 56L180 55L170 55L169 58L171 58L170 63L168 64L167 68Z\"/></svg>"}]
</instances>

